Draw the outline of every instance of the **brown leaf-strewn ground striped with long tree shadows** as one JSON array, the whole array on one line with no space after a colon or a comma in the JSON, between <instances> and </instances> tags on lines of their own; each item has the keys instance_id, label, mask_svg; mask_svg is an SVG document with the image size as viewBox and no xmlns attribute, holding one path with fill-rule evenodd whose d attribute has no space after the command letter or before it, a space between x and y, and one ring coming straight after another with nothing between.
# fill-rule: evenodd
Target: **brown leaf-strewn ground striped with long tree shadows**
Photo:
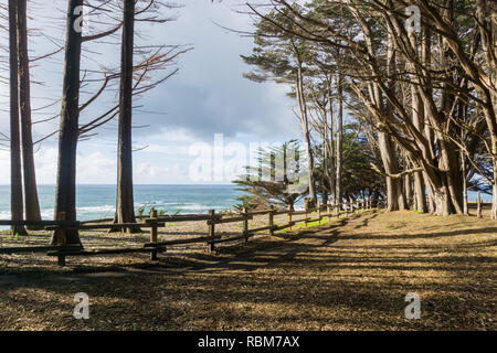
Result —
<instances>
[{"instance_id":1,"label":"brown leaf-strewn ground striped with long tree shadows","mask_svg":"<svg viewBox=\"0 0 497 353\"><path fill-rule=\"evenodd\" d=\"M371 211L157 263L0 255L0 330L496 330L496 245L489 220ZM88 320L73 317L77 292Z\"/></svg>"}]
</instances>

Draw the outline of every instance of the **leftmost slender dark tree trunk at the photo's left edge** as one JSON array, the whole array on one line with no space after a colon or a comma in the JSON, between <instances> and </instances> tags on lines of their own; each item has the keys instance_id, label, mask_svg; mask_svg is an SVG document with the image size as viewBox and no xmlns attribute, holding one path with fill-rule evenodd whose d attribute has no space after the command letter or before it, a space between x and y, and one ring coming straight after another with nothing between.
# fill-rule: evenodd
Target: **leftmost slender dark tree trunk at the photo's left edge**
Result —
<instances>
[{"instance_id":1,"label":"leftmost slender dark tree trunk at the photo's left edge","mask_svg":"<svg viewBox=\"0 0 497 353\"><path fill-rule=\"evenodd\" d=\"M9 0L9 64L10 64L10 212L12 221L22 221L21 142L19 135L18 31L17 0ZM25 234L23 226L12 226L12 234Z\"/></svg>"}]
</instances>

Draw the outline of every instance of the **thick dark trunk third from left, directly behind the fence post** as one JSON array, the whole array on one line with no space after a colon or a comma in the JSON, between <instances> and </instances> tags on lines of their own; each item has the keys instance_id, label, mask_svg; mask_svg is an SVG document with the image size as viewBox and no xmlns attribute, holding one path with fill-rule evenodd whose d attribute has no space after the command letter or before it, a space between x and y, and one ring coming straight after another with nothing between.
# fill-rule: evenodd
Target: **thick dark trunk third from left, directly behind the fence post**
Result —
<instances>
[{"instance_id":1,"label":"thick dark trunk third from left, directly behind the fence post","mask_svg":"<svg viewBox=\"0 0 497 353\"><path fill-rule=\"evenodd\" d=\"M76 221L76 148L80 120L80 66L82 33L76 30L75 10L83 0L68 0L62 93L55 220ZM77 12L76 12L77 13ZM64 237L65 236L65 237ZM52 244L81 245L77 231L55 232Z\"/></svg>"}]
</instances>

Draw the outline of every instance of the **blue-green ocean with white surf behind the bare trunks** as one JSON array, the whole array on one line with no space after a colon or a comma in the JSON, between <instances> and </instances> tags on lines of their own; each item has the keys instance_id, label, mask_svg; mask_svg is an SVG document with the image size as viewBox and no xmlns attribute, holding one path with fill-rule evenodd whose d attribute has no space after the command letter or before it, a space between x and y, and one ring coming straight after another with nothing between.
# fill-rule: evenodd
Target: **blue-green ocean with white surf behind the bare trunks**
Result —
<instances>
[{"instance_id":1,"label":"blue-green ocean with white surf behind the bare trunks","mask_svg":"<svg viewBox=\"0 0 497 353\"><path fill-rule=\"evenodd\" d=\"M135 208L155 207L167 213L207 213L229 210L244 194L237 185L135 185ZM43 220L53 220L54 185L39 185ZM77 185L76 212L78 221L108 218L116 210L116 185ZM0 185L0 220L10 220L10 185Z\"/></svg>"}]
</instances>

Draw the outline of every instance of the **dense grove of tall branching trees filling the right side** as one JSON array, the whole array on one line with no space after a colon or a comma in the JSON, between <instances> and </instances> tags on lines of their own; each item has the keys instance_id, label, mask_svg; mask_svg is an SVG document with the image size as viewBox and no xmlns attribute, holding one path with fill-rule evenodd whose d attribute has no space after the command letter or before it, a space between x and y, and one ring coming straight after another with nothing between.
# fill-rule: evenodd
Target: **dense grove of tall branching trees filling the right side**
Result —
<instances>
[{"instance_id":1,"label":"dense grove of tall branching trees filling the right side","mask_svg":"<svg viewBox=\"0 0 497 353\"><path fill-rule=\"evenodd\" d=\"M370 168L384 179L387 210L463 214L473 189L493 194L497 217L494 1L271 0L248 8L256 47L243 57L255 66L246 76L293 84L311 174L319 150L326 157L317 171L336 201L347 196L342 181L350 188L360 175L345 178L348 160L357 162L342 150L346 109ZM378 193L381 183L371 183Z\"/></svg>"}]
</instances>

